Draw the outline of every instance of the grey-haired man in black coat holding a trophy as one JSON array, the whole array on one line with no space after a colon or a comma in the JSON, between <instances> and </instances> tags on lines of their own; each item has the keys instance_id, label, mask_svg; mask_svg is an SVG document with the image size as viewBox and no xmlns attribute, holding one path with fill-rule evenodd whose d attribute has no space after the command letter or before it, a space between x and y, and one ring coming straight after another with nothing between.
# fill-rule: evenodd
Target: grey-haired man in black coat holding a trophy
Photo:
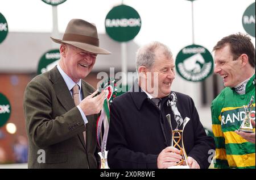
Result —
<instances>
[{"instance_id":1,"label":"grey-haired man in black coat holding a trophy","mask_svg":"<svg viewBox=\"0 0 256 180\"><path fill-rule=\"evenodd\" d=\"M110 106L107 149L110 168L168 168L180 161L180 150L171 146L172 127L177 122L171 108L171 84L175 78L174 59L170 49L154 41L137 52L138 82L115 98ZM209 150L214 140L206 135L193 100L175 92L177 110L183 119L190 118L184 128L183 141L190 168L208 168ZM160 103L156 103L160 99ZM155 101L156 100L156 101ZM182 129L182 125L179 129Z\"/></svg>"}]
</instances>

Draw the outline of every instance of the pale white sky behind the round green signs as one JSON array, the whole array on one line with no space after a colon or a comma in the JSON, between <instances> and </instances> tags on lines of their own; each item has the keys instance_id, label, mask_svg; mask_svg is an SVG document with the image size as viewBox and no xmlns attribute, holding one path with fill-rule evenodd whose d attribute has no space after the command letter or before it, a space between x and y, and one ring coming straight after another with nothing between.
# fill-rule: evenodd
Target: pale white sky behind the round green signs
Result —
<instances>
[{"instance_id":1,"label":"pale white sky behind the round green signs","mask_svg":"<svg viewBox=\"0 0 256 180\"><path fill-rule=\"evenodd\" d=\"M64 32L72 18L96 24L105 33L105 18L121 0L67 0L57 7L59 31ZM222 37L245 32L242 15L253 0L194 1L195 44L209 51ZM139 45L158 40L174 53L192 44L191 2L186 0L124 0L125 5L138 11L142 27L135 37ZM9 31L51 32L52 7L41 0L0 0L0 12L5 16ZM255 38L251 37L255 46Z\"/></svg>"}]
</instances>

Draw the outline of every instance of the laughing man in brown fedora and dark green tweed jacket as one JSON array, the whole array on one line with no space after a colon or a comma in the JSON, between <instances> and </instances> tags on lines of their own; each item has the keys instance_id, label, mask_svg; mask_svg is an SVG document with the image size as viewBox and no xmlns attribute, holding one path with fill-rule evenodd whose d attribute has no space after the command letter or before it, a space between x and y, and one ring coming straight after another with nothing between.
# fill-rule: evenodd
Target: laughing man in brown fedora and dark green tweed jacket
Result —
<instances>
[{"instance_id":1,"label":"laughing man in brown fedora and dark green tweed jacket","mask_svg":"<svg viewBox=\"0 0 256 180\"><path fill-rule=\"evenodd\" d=\"M55 68L28 83L24 114L29 140L28 168L97 168L96 122L105 98L83 81L99 47L96 26L72 19L60 43Z\"/></svg>"}]
</instances>

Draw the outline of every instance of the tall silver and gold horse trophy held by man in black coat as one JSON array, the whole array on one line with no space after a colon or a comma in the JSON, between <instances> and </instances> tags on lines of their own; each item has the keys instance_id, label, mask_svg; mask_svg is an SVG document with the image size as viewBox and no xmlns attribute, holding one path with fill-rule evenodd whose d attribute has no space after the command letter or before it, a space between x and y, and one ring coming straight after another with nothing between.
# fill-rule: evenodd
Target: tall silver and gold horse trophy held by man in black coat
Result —
<instances>
[{"instance_id":1,"label":"tall silver and gold horse trophy held by man in black coat","mask_svg":"<svg viewBox=\"0 0 256 180\"><path fill-rule=\"evenodd\" d=\"M180 155L182 156L182 159L179 162L177 162L175 166L171 166L168 169L189 169L188 157L187 157L187 153L185 152L184 143L183 143L183 132L184 132L185 125L189 122L190 119L186 117L183 120L179 110L177 109L176 94L172 92L170 96L172 100L171 101L168 100L167 106L171 107L172 112L174 112L174 119L177 122L176 128L172 129L171 115L170 114L166 115L168 123L171 127L171 134L172 134L171 146L174 146L175 148L180 150ZM183 124L182 130L179 129L181 124Z\"/></svg>"}]
</instances>

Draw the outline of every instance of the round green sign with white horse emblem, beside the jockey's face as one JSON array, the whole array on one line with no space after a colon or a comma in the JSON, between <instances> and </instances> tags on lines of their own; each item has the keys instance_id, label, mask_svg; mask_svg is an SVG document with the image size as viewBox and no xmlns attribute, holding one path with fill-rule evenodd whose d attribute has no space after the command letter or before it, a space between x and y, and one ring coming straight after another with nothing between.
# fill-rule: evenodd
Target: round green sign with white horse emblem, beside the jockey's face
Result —
<instances>
[{"instance_id":1,"label":"round green sign with white horse emblem, beside the jockey's face","mask_svg":"<svg viewBox=\"0 0 256 180\"><path fill-rule=\"evenodd\" d=\"M213 72L213 58L200 45L189 45L181 49L175 61L177 73L188 81L203 81Z\"/></svg>"}]
</instances>

